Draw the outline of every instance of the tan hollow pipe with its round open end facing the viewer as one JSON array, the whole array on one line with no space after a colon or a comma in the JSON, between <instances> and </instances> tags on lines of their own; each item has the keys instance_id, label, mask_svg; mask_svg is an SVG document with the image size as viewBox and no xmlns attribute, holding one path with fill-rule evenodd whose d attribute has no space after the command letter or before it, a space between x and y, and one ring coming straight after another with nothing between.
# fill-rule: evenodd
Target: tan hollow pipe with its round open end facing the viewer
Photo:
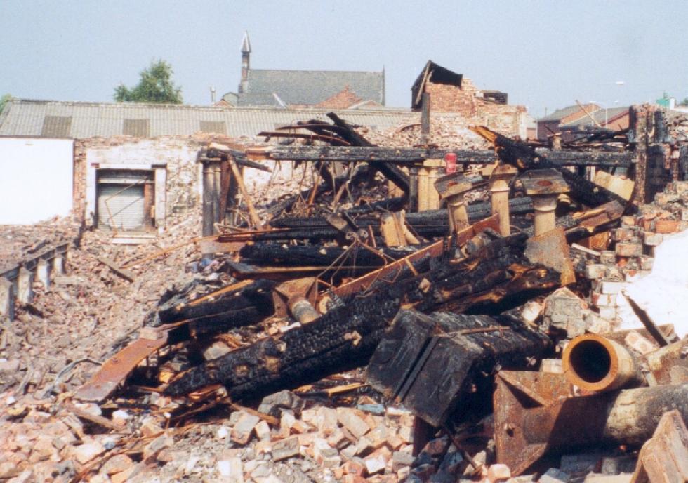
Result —
<instances>
[{"instance_id":1,"label":"tan hollow pipe with its round open end facing the viewer","mask_svg":"<svg viewBox=\"0 0 688 483\"><path fill-rule=\"evenodd\" d=\"M571 384L588 391L610 391L644 382L640 366L623 345L594 333L571 340L564 349L562 366Z\"/></svg>"}]
</instances>

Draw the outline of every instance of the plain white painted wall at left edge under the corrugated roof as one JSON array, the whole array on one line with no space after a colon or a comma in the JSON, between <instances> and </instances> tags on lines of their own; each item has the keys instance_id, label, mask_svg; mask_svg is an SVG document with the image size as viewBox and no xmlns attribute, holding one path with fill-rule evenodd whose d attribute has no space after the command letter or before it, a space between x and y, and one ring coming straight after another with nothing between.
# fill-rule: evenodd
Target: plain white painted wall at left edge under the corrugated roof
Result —
<instances>
[{"instance_id":1,"label":"plain white painted wall at left edge under the corrugated roof","mask_svg":"<svg viewBox=\"0 0 688 483\"><path fill-rule=\"evenodd\" d=\"M0 138L0 225L27 225L72 209L74 141Z\"/></svg>"}]
</instances>

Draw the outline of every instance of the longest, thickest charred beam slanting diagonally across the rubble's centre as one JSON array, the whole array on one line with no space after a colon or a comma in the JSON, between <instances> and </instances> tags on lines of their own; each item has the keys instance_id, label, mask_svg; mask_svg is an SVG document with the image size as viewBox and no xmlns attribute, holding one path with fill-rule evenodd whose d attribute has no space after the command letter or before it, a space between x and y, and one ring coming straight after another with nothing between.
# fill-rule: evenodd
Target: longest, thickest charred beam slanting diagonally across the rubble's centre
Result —
<instances>
[{"instance_id":1,"label":"longest, thickest charred beam slanting diagonally across the rubble's centre","mask_svg":"<svg viewBox=\"0 0 688 483\"><path fill-rule=\"evenodd\" d=\"M447 275L442 267L451 266L463 275L463 291L455 296L472 298L472 302L464 304L467 309L486 304L488 299L501 302L508 296L517 295L508 286L522 277L522 273L513 272L510 280L491 277L491 273L509 270L514 260L527 263L522 258L525 238L516 235L498 239L477 255L455 260L451 265L449 260L439 261L430 256L409 262L397 273L395 280L376 279L368 287L366 296L355 296L359 291L351 293L344 303L331 307L310 324L281 336L261 339L182 373L168 385L166 393L181 395L205 385L222 383L234 399L251 398L365 365L402 303L436 310L450 301L444 299L433 304L432 294L425 295L428 284L444 284L437 278ZM491 263L491 268L485 269L486 263ZM546 269L532 265L530 268L540 272L541 279L547 279ZM486 280L491 282L486 283ZM512 288L518 290L522 286L513 284ZM490 291L495 293L494 297L486 298Z\"/></svg>"}]
</instances>

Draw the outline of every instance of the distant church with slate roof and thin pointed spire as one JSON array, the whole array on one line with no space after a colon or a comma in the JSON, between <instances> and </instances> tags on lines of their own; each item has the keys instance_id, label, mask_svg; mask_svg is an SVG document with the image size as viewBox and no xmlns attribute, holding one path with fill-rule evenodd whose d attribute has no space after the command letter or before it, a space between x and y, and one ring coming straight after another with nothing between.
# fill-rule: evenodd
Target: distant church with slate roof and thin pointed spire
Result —
<instances>
[{"instance_id":1,"label":"distant church with slate roof and thin pointed spire","mask_svg":"<svg viewBox=\"0 0 688 483\"><path fill-rule=\"evenodd\" d=\"M234 107L350 109L385 105L385 70L251 69L251 41L242 41L242 80L222 102Z\"/></svg>"}]
</instances>

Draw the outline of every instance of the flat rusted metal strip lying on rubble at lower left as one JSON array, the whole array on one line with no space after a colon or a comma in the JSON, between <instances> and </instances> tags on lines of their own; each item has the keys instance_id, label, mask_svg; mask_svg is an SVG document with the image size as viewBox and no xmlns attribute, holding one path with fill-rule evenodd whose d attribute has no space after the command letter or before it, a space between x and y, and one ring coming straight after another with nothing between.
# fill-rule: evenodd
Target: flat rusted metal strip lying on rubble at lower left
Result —
<instances>
[{"instance_id":1,"label":"flat rusted metal strip lying on rubble at lower left","mask_svg":"<svg viewBox=\"0 0 688 483\"><path fill-rule=\"evenodd\" d=\"M102 364L100 370L77 390L76 396L84 401L102 401L124 382L138 364L146 357L163 348L167 343L167 333L152 340L138 338Z\"/></svg>"}]
</instances>

